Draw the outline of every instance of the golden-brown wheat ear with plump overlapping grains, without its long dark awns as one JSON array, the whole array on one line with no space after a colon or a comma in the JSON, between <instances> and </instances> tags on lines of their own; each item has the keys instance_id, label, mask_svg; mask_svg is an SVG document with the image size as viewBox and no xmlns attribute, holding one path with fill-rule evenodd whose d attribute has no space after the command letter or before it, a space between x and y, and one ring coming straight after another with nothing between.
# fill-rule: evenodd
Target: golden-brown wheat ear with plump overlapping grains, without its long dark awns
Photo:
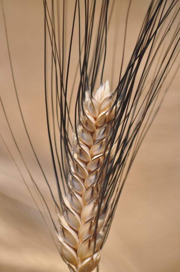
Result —
<instances>
[{"instance_id":1,"label":"golden-brown wheat ear with plump overlapping grains, without its long dark awns","mask_svg":"<svg viewBox=\"0 0 180 272\"><path fill-rule=\"evenodd\" d=\"M113 102L108 80L92 97L86 91L84 111L81 109L81 121L77 126L78 141L72 132L73 161L70 163L71 169L68 169L69 189L64 198L66 208L62 215L58 215L58 239L60 254L73 272L91 272L100 260L106 216L104 201L97 222L96 241L93 234L99 191L105 175L103 162L109 152L106 145L111 137L109 132L112 128L110 121L114 118ZM109 162L111 159L112 154Z\"/></svg>"}]
</instances>

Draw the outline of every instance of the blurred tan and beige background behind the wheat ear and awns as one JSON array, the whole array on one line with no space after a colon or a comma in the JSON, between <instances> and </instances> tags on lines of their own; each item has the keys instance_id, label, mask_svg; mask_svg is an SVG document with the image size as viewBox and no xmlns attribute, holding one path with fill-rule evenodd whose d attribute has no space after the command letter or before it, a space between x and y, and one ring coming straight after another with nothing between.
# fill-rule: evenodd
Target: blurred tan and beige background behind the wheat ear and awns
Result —
<instances>
[{"instance_id":1,"label":"blurred tan and beige background behind the wheat ear and awns","mask_svg":"<svg viewBox=\"0 0 180 272\"><path fill-rule=\"evenodd\" d=\"M149 3L150 1L132 0L125 47L125 67ZM71 18L74 1L68 1L67 5L68 16ZM117 1L117 7L120 9L120 32L125 29L127 6L127 1ZM43 2L3 0L3 7L14 78L24 120L42 168L55 191L45 118ZM116 24L117 18L114 16L110 33L116 30ZM20 117L8 58L2 5L0 35L1 99L24 160L47 202L50 203L51 209L54 209ZM123 35L124 32L122 37ZM75 38L78 39L76 34ZM118 47L117 57L122 52L122 41ZM111 45L110 41L108 45ZM109 54L110 58L111 53ZM170 78L174 75L178 62L179 59L176 59L169 74ZM73 68L72 66L72 71ZM115 73L116 70L119 71L118 67ZM105 71L104 78L110 76ZM179 76L180 74L177 74L174 78L127 177L102 251L100 272L180 271ZM70 77L72 84L71 81ZM34 187L9 134L1 106L0 133L34 196ZM1 139L0 217L1 272L68 271Z\"/></svg>"}]
</instances>

